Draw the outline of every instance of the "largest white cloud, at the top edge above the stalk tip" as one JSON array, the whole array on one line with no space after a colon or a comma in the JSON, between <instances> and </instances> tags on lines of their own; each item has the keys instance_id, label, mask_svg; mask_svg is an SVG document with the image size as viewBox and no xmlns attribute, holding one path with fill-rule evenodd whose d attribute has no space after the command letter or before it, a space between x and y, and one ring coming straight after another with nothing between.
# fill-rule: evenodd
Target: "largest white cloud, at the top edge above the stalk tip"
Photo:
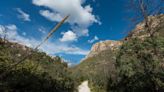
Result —
<instances>
[{"instance_id":1,"label":"largest white cloud, at the top edge above the stalk tip","mask_svg":"<svg viewBox=\"0 0 164 92\"><path fill-rule=\"evenodd\" d=\"M33 4L44 6L50 10L41 10L40 14L45 18L59 22L66 15L70 15L67 23L77 37L89 35L88 27L93 23L101 24L92 13L90 5L82 5L86 0L33 0Z\"/></svg>"}]
</instances>

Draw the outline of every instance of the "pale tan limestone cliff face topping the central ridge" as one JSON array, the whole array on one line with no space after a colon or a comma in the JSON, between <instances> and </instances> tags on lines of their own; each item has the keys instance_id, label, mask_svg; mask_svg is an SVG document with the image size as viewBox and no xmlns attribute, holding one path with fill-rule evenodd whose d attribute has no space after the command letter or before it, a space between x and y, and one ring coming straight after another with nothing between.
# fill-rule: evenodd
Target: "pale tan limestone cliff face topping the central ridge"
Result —
<instances>
[{"instance_id":1,"label":"pale tan limestone cliff face topping the central ridge","mask_svg":"<svg viewBox=\"0 0 164 92\"><path fill-rule=\"evenodd\" d=\"M93 57L99 54L101 51L105 51L108 49L114 51L118 49L121 45L122 45L121 41L106 40L106 41L98 42L92 46L91 51L87 57Z\"/></svg>"}]
</instances>

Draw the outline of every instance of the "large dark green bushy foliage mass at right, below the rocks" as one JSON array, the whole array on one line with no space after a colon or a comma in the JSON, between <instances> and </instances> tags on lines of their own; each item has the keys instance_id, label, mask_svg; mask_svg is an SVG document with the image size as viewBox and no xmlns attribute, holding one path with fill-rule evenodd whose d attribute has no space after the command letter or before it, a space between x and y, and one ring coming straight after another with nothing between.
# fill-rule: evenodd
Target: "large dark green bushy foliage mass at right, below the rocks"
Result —
<instances>
[{"instance_id":1,"label":"large dark green bushy foliage mass at right, below the rocks","mask_svg":"<svg viewBox=\"0 0 164 92\"><path fill-rule=\"evenodd\" d=\"M116 80L110 79L108 91L163 92L164 37L131 38L117 56Z\"/></svg>"}]
</instances>

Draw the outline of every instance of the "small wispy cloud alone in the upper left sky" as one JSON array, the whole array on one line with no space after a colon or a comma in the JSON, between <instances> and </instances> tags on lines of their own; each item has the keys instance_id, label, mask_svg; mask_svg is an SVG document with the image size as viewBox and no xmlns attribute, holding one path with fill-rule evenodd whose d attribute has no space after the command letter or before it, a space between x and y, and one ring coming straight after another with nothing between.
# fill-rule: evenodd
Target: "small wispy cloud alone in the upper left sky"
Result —
<instances>
[{"instance_id":1,"label":"small wispy cloud alone in the upper left sky","mask_svg":"<svg viewBox=\"0 0 164 92\"><path fill-rule=\"evenodd\" d=\"M18 17L21 18L21 19L23 19L23 21L31 21L29 14L25 13L20 8L16 8L16 10L20 13L20 15L18 15Z\"/></svg>"}]
</instances>

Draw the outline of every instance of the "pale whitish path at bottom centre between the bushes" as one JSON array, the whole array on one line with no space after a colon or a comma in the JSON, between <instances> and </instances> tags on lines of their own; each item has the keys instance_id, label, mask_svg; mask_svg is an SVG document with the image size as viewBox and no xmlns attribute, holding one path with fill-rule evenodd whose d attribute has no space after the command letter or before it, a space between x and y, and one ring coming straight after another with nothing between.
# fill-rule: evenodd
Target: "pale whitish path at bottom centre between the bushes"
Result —
<instances>
[{"instance_id":1,"label":"pale whitish path at bottom centre between the bushes","mask_svg":"<svg viewBox=\"0 0 164 92\"><path fill-rule=\"evenodd\" d=\"M79 85L78 92L91 92L90 88L88 87L88 81L84 81Z\"/></svg>"}]
</instances>

